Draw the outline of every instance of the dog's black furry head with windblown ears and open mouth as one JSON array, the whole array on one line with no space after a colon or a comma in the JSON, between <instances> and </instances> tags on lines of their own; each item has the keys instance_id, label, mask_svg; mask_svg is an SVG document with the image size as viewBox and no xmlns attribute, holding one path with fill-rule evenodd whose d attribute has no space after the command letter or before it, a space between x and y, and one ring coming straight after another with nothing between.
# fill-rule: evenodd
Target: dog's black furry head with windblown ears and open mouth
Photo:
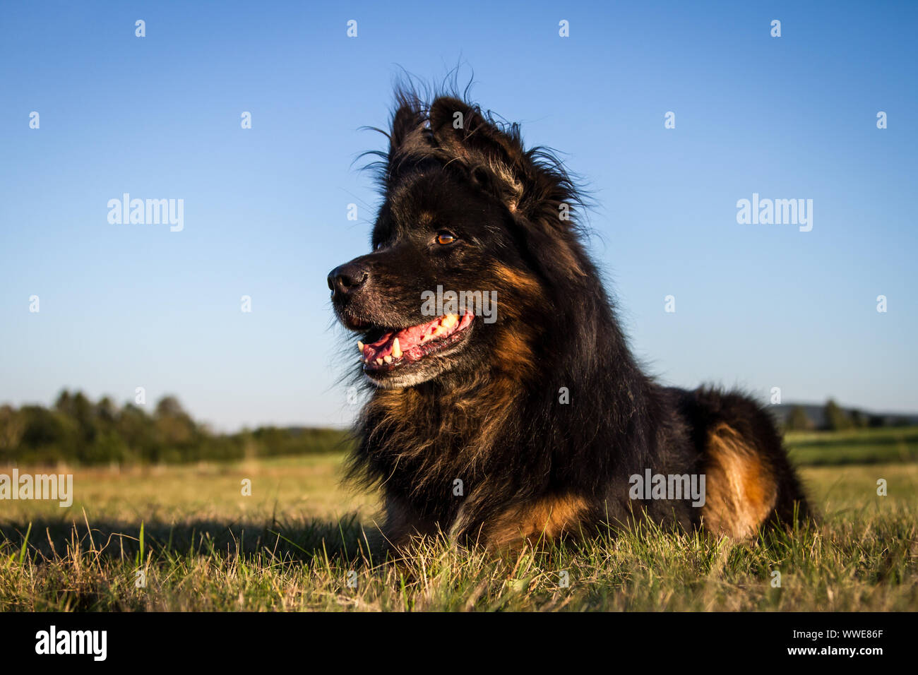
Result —
<instances>
[{"instance_id":1,"label":"dog's black furry head with windblown ears and open mouth","mask_svg":"<svg viewBox=\"0 0 918 675\"><path fill-rule=\"evenodd\" d=\"M551 153L523 149L516 125L452 96L398 103L376 167L373 250L328 276L364 374L401 388L480 368L537 372L540 337L588 276L577 191Z\"/></svg>"}]
</instances>

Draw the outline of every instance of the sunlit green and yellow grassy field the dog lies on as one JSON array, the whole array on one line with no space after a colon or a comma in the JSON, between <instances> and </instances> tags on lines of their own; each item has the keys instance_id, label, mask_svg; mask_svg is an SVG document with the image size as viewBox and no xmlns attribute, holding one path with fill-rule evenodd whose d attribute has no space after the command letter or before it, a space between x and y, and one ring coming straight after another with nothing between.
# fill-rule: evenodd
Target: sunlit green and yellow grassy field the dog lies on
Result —
<instances>
[{"instance_id":1,"label":"sunlit green and yellow grassy field the dog lies on","mask_svg":"<svg viewBox=\"0 0 918 675\"><path fill-rule=\"evenodd\" d=\"M915 433L791 436L818 528L752 545L644 528L512 559L443 541L381 557L378 504L341 489L340 455L73 467L69 509L0 501L0 610L913 611Z\"/></svg>"}]
</instances>

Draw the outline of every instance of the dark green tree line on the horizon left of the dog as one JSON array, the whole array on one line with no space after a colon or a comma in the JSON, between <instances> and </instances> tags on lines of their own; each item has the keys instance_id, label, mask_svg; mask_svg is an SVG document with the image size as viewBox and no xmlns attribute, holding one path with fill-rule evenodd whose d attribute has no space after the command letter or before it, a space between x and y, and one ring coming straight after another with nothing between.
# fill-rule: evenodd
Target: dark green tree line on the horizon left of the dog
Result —
<instances>
[{"instance_id":1,"label":"dark green tree line on the horizon left of the dog","mask_svg":"<svg viewBox=\"0 0 918 675\"><path fill-rule=\"evenodd\" d=\"M64 389L53 406L0 406L0 465L160 464L323 453L344 449L337 429L262 426L213 433L192 419L174 396L146 406L93 402Z\"/></svg>"}]
</instances>

